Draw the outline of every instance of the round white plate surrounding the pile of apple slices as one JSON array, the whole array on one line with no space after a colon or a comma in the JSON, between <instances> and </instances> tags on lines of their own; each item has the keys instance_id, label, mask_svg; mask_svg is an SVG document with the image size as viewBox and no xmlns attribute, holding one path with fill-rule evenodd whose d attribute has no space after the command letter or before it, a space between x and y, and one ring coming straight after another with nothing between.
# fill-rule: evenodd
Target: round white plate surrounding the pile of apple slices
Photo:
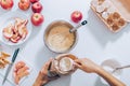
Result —
<instances>
[{"instance_id":1,"label":"round white plate surrounding the pile of apple slices","mask_svg":"<svg viewBox=\"0 0 130 86\"><path fill-rule=\"evenodd\" d=\"M17 43L12 43L10 41L6 41L3 38L3 33L2 30L4 27L6 27L9 24L14 24L16 17L20 17L22 19L28 19L28 24L27 24L27 30L28 30L28 34L24 40L18 41ZM31 33L31 23L30 19L27 15L25 15L24 13L20 13L18 11L16 12L8 12L5 14L3 14L2 16L0 16L0 41L6 45L20 45L23 44L25 41L27 41L27 39L29 38L30 33Z\"/></svg>"}]
</instances>

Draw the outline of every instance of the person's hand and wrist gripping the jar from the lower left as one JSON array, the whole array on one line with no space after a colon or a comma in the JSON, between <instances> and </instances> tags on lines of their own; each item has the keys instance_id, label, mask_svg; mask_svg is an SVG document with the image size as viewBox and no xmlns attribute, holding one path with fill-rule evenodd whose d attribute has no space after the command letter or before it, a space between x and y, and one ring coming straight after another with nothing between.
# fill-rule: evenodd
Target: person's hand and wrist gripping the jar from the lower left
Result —
<instances>
[{"instance_id":1,"label":"person's hand and wrist gripping the jar from the lower left","mask_svg":"<svg viewBox=\"0 0 130 86\"><path fill-rule=\"evenodd\" d=\"M44 63L32 86L42 86L50 81L48 78L48 69L51 62L52 62L52 59L50 59L48 62Z\"/></svg>"}]
</instances>

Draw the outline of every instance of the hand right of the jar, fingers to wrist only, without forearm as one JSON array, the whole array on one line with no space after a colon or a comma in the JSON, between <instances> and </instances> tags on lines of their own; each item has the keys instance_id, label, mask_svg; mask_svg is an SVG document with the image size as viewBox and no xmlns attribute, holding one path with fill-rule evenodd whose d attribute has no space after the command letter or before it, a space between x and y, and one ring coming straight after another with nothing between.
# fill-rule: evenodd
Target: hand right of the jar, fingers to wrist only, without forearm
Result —
<instances>
[{"instance_id":1,"label":"hand right of the jar, fingers to wrist only, without forearm","mask_svg":"<svg viewBox=\"0 0 130 86\"><path fill-rule=\"evenodd\" d=\"M95 73L100 66L87 58L76 59L75 66L88 73Z\"/></svg>"}]
</instances>

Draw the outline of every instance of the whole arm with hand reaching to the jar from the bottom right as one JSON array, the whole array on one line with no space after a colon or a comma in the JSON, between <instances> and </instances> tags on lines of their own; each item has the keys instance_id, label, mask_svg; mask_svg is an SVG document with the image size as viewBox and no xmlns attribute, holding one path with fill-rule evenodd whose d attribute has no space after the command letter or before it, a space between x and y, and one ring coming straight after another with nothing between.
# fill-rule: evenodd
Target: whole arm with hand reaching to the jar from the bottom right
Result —
<instances>
[{"instance_id":1,"label":"whole arm with hand reaching to the jar from the bottom right","mask_svg":"<svg viewBox=\"0 0 130 86\"><path fill-rule=\"evenodd\" d=\"M75 60L75 66L83 70L84 72L99 74L106 82L108 82L110 86L126 86L122 82L106 72L102 67L98 66L96 63L87 58Z\"/></svg>"}]
</instances>

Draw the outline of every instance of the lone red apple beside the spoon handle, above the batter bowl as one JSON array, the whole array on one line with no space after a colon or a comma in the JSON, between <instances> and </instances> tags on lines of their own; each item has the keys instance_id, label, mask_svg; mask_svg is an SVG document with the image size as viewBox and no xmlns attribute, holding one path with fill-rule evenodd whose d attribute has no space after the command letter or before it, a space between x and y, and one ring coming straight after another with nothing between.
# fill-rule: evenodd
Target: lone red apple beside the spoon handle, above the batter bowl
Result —
<instances>
[{"instance_id":1,"label":"lone red apple beside the spoon handle, above the batter bowl","mask_svg":"<svg viewBox=\"0 0 130 86\"><path fill-rule=\"evenodd\" d=\"M79 23L82 19L82 13L80 11L75 11L70 15L74 23Z\"/></svg>"}]
</instances>

